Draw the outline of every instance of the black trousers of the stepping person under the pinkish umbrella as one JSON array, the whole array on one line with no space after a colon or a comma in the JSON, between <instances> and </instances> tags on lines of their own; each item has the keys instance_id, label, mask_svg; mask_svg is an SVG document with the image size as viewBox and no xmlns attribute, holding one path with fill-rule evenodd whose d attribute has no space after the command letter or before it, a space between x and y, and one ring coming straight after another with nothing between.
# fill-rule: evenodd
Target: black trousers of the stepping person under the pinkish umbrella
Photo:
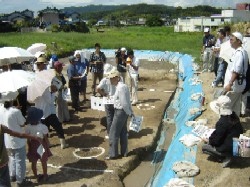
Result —
<instances>
[{"instance_id":1,"label":"black trousers of the stepping person under the pinkish umbrella","mask_svg":"<svg viewBox=\"0 0 250 187\"><path fill-rule=\"evenodd\" d=\"M50 116L42 120L42 123L45 124L48 127L48 129L50 126L52 126L53 129L55 129L58 138L64 139L64 131L62 128L62 123L60 123L56 114L51 114Z\"/></svg>"}]
</instances>

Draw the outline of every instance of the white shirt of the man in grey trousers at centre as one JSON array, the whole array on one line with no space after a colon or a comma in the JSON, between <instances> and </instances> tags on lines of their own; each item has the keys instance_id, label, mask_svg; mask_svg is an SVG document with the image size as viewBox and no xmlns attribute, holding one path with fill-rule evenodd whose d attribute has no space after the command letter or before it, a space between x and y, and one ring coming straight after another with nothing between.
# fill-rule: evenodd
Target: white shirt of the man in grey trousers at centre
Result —
<instances>
[{"instance_id":1,"label":"white shirt of the man in grey trousers at centre","mask_svg":"<svg viewBox=\"0 0 250 187\"><path fill-rule=\"evenodd\" d=\"M116 91L114 94L114 108L123 109L127 115L133 114L131 103L130 103L130 93L128 86L123 82L118 82Z\"/></svg>"}]
</instances>

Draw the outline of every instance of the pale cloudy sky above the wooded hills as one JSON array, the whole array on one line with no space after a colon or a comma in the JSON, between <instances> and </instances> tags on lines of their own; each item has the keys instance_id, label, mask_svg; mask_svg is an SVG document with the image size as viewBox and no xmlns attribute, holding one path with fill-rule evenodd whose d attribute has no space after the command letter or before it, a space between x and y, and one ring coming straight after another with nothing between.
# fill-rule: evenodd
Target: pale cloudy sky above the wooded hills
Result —
<instances>
[{"instance_id":1,"label":"pale cloudy sky above the wooded hills","mask_svg":"<svg viewBox=\"0 0 250 187\"><path fill-rule=\"evenodd\" d=\"M210 5L216 7L235 8L236 3L247 2L248 0L126 0L123 4L164 4L168 6L192 7L196 5ZM101 2L101 3L100 3ZM49 7L61 9L68 6L86 6L90 4L119 5L120 0L0 0L0 13L11 13L29 9L35 11Z\"/></svg>"}]
</instances>

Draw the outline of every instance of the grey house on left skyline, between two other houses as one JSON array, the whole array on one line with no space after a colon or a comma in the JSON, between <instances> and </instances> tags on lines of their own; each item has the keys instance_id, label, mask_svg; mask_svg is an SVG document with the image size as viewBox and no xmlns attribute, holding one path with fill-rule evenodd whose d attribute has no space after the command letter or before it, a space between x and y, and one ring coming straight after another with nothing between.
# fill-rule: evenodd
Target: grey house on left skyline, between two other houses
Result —
<instances>
[{"instance_id":1,"label":"grey house on left skyline, between two other houses","mask_svg":"<svg viewBox=\"0 0 250 187\"><path fill-rule=\"evenodd\" d=\"M40 18L40 24L51 25L59 24L59 10L54 8L47 7L44 10L38 12Z\"/></svg>"}]
</instances>

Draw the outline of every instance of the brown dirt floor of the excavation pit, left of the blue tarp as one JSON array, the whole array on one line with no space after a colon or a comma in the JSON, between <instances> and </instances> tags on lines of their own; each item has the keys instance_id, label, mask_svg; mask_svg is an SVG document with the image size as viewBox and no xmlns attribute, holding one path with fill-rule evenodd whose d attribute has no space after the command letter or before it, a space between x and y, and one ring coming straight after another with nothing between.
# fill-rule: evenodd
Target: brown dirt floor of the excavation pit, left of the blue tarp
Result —
<instances>
[{"instance_id":1,"label":"brown dirt floor of the excavation pit, left of the blue tarp","mask_svg":"<svg viewBox=\"0 0 250 187\"><path fill-rule=\"evenodd\" d=\"M67 66L67 59L60 61ZM109 59L108 63L114 64L114 60ZM139 133L129 131L128 157L115 161L104 159L108 152L108 140L104 138L106 130L102 125L104 112L92 110L90 102L87 102L81 103L83 112L76 114L69 105L71 121L63 124L63 128L70 147L62 150L55 131L50 133L53 156L48 161L49 180L46 183L36 183L28 163L27 177L34 182L33 186L123 186L121 179L140 163L147 152L153 151L166 103L176 87L176 75L168 73L172 68L173 65L167 62L141 63L139 105L133 106L133 110L136 115L144 117L143 127ZM92 94L90 87L91 77L88 78L88 98ZM80 99L83 99L82 96ZM93 147L99 149L85 150ZM78 148L81 149L76 152L78 156L101 155L93 159L78 159L73 154ZM100 148L105 152L101 153L103 149ZM41 173L41 165L38 166Z\"/></svg>"}]
</instances>

